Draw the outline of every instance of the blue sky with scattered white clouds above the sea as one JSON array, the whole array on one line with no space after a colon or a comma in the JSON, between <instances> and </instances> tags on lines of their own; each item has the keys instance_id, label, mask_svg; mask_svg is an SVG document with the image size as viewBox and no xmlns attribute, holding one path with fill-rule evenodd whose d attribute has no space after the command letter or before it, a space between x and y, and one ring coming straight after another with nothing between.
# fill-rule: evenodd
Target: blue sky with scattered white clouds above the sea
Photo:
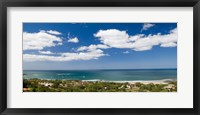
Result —
<instances>
[{"instance_id":1,"label":"blue sky with scattered white clouds above the sea","mask_svg":"<svg viewBox=\"0 0 200 115\"><path fill-rule=\"evenodd\" d=\"M23 23L24 70L177 68L176 23Z\"/></svg>"}]
</instances>

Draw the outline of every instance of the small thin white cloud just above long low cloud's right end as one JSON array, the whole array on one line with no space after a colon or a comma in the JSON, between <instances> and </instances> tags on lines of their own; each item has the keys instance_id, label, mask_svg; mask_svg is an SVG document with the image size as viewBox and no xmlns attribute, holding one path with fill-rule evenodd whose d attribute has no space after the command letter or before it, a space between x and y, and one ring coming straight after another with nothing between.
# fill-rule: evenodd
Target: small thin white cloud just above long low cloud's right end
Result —
<instances>
[{"instance_id":1,"label":"small thin white cloud just above long low cloud's right end","mask_svg":"<svg viewBox=\"0 0 200 115\"><path fill-rule=\"evenodd\" d=\"M90 46L82 46L80 48L78 48L78 51L92 51L92 50L96 50L96 49L108 49L109 47L107 45L103 45L103 44L97 44L97 45L90 45Z\"/></svg>"}]
</instances>

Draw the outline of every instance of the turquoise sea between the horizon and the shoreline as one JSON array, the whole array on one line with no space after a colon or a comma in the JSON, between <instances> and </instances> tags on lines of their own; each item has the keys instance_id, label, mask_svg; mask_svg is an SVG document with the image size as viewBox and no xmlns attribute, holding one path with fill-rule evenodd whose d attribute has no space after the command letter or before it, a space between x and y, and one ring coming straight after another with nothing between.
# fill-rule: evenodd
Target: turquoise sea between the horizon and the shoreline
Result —
<instances>
[{"instance_id":1,"label":"turquoise sea between the horizon and the shoreline","mask_svg":"<svg viewBox=\"0 0 200 115\"><path fill-rule=\"evenodd\" d=\"M24 70L23 78L66 80L163 80L177 79L176 69L127 69L127 70Z\"/></svg>"}]
</instances>

